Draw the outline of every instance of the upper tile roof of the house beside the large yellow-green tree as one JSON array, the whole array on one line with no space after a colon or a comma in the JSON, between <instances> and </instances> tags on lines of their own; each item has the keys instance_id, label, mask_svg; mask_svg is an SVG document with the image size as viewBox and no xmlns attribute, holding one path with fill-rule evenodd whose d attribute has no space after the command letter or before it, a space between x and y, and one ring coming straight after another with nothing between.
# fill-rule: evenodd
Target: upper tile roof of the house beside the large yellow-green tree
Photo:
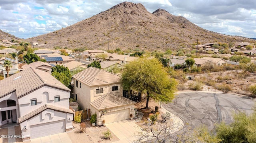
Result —
<instances>
[{"instance_id":1,"label":"upper tile roof of the house beside the large yellow-green tree","mask_svg":"<svg viewBox=\"0 0 256 143\"><path fill-rule=\"evenodd\" d=\"M73 76L76 80L88 85L99 86L121 82L120 76L95 67L89 67Z\"/></svg>"}]
</instances>

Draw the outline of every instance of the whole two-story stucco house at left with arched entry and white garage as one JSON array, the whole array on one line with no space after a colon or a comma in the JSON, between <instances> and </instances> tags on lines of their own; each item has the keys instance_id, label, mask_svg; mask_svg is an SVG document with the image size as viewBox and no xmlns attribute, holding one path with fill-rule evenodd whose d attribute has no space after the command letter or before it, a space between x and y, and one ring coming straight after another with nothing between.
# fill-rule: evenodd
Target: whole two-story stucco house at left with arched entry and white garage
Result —
<instances>
[{"instance_id":1,"label":"whole two-story stucco house at left with arched entry and white garage","mask_svg":"<svg viewBox=\"0 0 256 143\"><path fill-rule=\"evenodd\" d=\"M23 140L72 130L69 97L48 72L25 69L0 80L0 126L19 123Z\"/></svg>"}]
</instances>

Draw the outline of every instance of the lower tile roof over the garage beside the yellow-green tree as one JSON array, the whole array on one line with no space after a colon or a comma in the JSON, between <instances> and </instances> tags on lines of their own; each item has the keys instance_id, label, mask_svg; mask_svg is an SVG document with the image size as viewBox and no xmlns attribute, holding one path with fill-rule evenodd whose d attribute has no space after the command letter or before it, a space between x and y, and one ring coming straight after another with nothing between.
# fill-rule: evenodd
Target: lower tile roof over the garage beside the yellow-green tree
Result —
<instances>
[{"instance_id":1,"label":"lower tile roof over the garage beside the yellow-green tree","mask_svg":"<svg viewBox=\"0 0 256 143\"><path fill-rule=\"evenodd\" d=\"M118 96L112 93L107 93L102 95L100 98L94 100L90 103L97 110L106 110L110 108L117 108L120 106L134 105L136 102L124 98L122 96Z\"/></svg>"}]
</instances>

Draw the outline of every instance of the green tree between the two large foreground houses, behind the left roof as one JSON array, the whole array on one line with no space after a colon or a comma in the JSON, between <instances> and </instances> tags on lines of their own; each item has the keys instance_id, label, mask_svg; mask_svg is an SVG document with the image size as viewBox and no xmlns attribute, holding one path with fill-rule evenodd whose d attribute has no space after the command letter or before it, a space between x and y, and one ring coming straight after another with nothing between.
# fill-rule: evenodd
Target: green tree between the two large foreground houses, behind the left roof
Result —
<instances>
[{"instance_id":1,"label":"green tree between the two large foreground houses, behind the left roof","mask_svg":"<svg viewBox=\"0 0 256 143\"><path fill-rule=\"evenodd\" d=\"M52 76L54 76L57 80L63 83L65 86L69 86L72 76L68 69L68 67L64 67L63 65L56 65L56 67L52 68Z\"/></svg>"}]
</instances>

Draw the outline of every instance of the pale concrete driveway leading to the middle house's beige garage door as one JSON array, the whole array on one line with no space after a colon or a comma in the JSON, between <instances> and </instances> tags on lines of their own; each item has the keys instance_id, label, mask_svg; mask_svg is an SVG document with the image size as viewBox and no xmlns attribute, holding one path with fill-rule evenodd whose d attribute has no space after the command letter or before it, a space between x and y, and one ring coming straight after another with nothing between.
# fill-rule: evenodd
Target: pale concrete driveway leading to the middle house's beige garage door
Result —
<instances>
[{"instance_id":1,"label":"pale concrete driveway leading to the middle house's beige garage door","mask_svg":"<svg viewBox=\"0 0 256 143\"><path fill-rule=\"evenodd\" d=\"M109 123L106 124L106 127L120 139L113 143L132 143L136 141L136 135L142 132L142 129L135 123L135 120L130 119Z\"/></svg>"}]
</instances>

